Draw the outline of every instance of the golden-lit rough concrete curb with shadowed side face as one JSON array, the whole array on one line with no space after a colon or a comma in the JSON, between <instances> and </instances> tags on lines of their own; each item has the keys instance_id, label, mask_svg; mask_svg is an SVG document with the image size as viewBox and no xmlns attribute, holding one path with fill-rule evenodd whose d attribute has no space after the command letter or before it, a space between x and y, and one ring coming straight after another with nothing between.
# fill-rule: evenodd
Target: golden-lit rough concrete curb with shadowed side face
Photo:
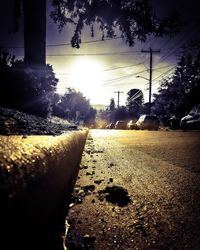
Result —
<instances>
[{"instance_id":1,"label":"golden-lit rough concrete curb with shadowed side face","mask_svg":"<svg viewBox=\"0 0 200 250\"><path fill-rule=\"evenodd\" d=\"M61 231L60 208L76 180L87 134L0 138L0 233L5 241L0 244L7 244L1 249L61 249L55 239Z\"/></svg>"}]
</instances>

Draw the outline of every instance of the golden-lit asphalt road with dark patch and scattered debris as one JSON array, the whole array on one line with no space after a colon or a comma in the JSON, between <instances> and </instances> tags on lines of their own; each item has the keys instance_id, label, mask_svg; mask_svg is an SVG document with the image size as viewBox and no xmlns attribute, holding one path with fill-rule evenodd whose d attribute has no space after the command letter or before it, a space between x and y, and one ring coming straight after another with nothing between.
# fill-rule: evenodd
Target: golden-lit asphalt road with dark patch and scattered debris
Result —
<instances>
[{"instance_id":1,"label":"golden-lit asphalt road with dark patch and scattered debris","mask_svg":"<svg viewBox=\"0 0 200 250\"><path fill-rule=\"evenodd\" d=\"M68 249L199 249L200 132L91 130Z\"/></svg>"}]
</instances>

